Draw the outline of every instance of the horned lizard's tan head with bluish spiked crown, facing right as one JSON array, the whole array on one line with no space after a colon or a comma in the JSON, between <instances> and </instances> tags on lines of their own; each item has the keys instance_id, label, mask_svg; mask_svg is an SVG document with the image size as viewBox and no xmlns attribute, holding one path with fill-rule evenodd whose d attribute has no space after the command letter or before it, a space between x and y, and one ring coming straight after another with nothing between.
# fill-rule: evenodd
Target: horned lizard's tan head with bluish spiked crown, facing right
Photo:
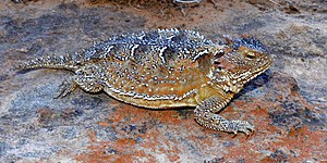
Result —
<instances>
[{"instance_id":1,"label":"horned lizard's tan head with bluish spiked crown, facing right","mask_svg":"<svg viewBox=\"0 0 327 163\"><path fill-rule=\"evenodd\" d=\"M272 60L263 43L253 37L227 40L228 48L211 60L209 77L216 86L235 93L249 80L265 72Z\"/></svg>"}]
</instances>

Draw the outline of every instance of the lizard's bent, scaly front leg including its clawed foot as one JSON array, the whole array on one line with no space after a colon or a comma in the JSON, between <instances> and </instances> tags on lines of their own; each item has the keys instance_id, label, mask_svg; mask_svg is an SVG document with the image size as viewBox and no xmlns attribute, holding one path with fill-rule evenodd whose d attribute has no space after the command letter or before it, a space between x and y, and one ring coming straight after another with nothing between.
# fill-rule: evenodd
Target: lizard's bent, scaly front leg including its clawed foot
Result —
<instances>
[{"instance_id":1,"label":"lizard's bent, scaly front leg including its clawed foot","mask_svg":"<svg viewBox=\"0 0 327 163\"><path fill-rule=\"evenodd\" d=\"M207 128L238 134L242 131L249 135L254 130L254 126L246 121L228 121L225 117L215 114L223 109L226 101L219 97L210 97L203 100L194 110L195 121Z\"/></svg>"}]
</instances>

